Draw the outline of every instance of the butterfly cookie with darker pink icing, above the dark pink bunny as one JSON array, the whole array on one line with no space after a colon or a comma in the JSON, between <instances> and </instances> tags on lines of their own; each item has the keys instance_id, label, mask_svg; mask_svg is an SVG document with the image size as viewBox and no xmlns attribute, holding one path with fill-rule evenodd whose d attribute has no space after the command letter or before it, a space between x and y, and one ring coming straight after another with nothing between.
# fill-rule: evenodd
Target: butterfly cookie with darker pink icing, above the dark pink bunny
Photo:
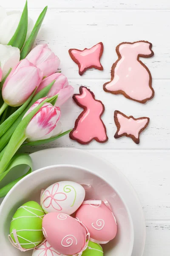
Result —
<instances>
[{"instance_id":1,"label":"butterfly cookie with darker pink icing, above the dark pink bunny","mask_svg":"<svg viewBox=\"0 0 170 256\"><path fill-rule=\"evenodd\" d=\"M103 70L102 64L100 63L100 58L103 53L103 44L100 42L90 49L85 48L83 51L78 49L69 49L69 54L72 60L79 66L79 75L82 76L83 73L89 68L96 68L98 70Z\"/></svg>"}]
</instances>

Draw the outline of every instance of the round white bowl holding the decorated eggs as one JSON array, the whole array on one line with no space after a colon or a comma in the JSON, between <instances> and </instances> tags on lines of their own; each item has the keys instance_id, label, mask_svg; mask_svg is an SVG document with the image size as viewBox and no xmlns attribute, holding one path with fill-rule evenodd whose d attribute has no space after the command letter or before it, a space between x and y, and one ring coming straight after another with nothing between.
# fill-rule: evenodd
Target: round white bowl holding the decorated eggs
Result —
<instances>
[{"instance_id":1,"label":"round white bowl holding the decorated eggs","mask_svg":"<svg viewBox=\"0 0 170 256\"><path fill-rule=\"evenodd\" d=\"M115 239L103 246L105 256L131 256L133 250L134 231L129 210L122 196L107 180L91 170L79 166L48 166L32 172L20 180L6 195L0 206L0 252L7 256L31 256L32 250L25 253L14 248L8 240L10 221L17 208L27 201L40 203L40 191L49 185L62 180L71 180L80 184L91 184L86 199L107 199L111 204L118 224ZM0 255L1 255L0 253Z\"/></svg>"}]
</instances>

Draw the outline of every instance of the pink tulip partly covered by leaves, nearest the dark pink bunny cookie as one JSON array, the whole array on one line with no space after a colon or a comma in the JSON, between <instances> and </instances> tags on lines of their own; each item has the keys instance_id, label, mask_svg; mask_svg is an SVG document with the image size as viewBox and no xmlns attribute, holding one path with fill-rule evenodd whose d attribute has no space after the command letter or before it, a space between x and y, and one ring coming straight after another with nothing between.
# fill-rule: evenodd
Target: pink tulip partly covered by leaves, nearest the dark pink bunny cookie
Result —
<instances>
[{"instance_id":1,"label":"pink tulip partly covered by leaves, nearest the dark pink bunny cookie","mask_svg":"<svg viewBox=\"0 0 170 256\"><path fill-rule=\"evenodd\" d=\"M38 87L36 93L46 87L48 84L51 84L52 81L55 81L53 87L48 93L48 97L52 97L56 94L59 94L57 98L56 105L61 106L65 103L71 96L73 96L74 88L71 85L68 85L67 78L61 73L55 73L47 78L43 79L40 86Z\"/></svg>"}]
</instances>

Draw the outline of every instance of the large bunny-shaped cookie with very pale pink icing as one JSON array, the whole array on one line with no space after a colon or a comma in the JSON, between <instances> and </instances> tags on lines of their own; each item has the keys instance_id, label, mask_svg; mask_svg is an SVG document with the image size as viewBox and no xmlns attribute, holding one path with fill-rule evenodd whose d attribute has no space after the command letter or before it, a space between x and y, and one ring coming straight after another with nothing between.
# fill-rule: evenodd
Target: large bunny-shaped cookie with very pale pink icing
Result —
<instances>
[{"instance_id":1,"label":"large bunny-shaped cookie with very pale pink icing","mask_svg":"<svg viewBox=\"0 0 170 256\"><path fill-rule=\"evenodd\" d=\"M148 41L121 43L116 47L118 60L111 68L111 81L103 85L106 92L123 94L127 99L145 103L152 99L152 76L139 57L154 55L152 44Z\"/></svg>"}]
</instances>

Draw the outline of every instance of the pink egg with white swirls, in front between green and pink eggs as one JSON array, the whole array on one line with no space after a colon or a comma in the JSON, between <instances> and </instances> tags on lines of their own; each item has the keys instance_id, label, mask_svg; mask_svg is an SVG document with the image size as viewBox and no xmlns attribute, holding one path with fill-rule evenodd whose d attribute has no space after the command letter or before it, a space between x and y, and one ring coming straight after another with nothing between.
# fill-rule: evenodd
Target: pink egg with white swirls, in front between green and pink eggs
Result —
<instances>
[{"instance_id":1,"label":"pink egg with white swirls, in front between green and pink eggs","mask_svg":"<svg viewBox=\"0 0 170 256\"><path fill-rule=\"evenodd\" d=\"M85 247L85 227L70 215L48 213L43 218L42 230L48 243L64 255L78 254Z\"/></svg>"}]
</instances>

